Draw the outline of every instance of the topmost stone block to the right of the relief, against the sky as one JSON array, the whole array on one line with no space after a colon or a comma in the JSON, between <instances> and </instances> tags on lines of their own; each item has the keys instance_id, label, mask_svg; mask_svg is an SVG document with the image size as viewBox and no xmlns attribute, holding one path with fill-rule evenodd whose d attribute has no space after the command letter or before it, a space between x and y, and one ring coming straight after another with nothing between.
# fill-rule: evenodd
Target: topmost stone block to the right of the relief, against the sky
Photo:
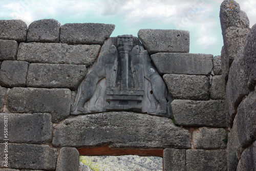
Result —
<instances>
[{"instance_id":1,"label":"topmost stone block to the right of the relief, against the sky","mask_svg":"<svg viewBox=\"0 0 256 171\"><path fill-rule=\"evenodd\" d=\"M150 54L189 52L189 32L184 30L141 29L138 37Z\"/></svg>"}]
</instances>

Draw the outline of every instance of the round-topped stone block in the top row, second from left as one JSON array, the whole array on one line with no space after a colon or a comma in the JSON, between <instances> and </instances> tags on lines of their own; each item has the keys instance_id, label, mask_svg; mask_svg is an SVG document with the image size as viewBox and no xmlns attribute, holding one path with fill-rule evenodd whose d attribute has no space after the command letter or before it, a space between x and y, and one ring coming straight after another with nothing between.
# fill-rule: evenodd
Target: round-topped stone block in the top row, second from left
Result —
<instances>
[{"instance_id":1,"label":"round-topped stone block in the top row, second from left","mask_svg":"<svg viewBox=\"0 0 256 171\"><path fill-rule=\"evenodd\" d=\"M27 42L59 42L60 23L55 19L40 19L28 28Z\"/></svg>"}]
</instances>

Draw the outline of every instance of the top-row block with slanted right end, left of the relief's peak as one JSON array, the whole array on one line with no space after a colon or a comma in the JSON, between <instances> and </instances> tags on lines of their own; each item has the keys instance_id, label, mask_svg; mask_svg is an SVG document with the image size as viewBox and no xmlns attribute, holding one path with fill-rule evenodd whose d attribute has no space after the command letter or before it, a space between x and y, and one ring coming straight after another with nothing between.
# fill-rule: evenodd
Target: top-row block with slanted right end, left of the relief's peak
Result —
<instances>
[{"instance_id":1,"label":"top-row block with slanted right end, left of the relief's peak","mask_svg":"<svg viewBox=\"0 0 256 171\"><path fill-rule=\"evenodd\" d=\"M66 44L102 45L114 29L115 25L110 24L69 23L61 26L59 39Z\"/></svg>"}]
</instances>

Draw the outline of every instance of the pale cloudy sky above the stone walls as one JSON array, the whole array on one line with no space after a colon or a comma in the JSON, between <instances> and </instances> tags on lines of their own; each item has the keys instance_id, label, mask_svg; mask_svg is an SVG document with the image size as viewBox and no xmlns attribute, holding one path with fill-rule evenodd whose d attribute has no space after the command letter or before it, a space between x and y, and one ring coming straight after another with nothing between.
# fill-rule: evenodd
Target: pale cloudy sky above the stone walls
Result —
<instances>
[{"instance_id":1,"label":"pale cloudy sky above the stone walls","mask_svg":"<svg viewBox=\"0 0 256 171\"><path fill-rule=\"evenodd\" d=\"M219 19L222 0L1 0L0 19L54 18L66 23L115 24L111 36L140 29L177 29L190 32L190 53L221 54ZM256 23L256 1L237 0Z\"/></svg>"}]
</instances>

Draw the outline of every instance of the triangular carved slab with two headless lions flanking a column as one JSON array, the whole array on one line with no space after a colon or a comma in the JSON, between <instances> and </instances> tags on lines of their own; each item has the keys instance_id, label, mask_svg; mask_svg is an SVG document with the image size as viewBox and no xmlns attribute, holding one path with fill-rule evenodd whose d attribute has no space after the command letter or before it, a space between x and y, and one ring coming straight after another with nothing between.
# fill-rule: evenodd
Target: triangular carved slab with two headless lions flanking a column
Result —
<instances>
[{"instance_id":1,"label":"triangular carved slab with two headless lions flanking a column","mask_svg":"<svg viewBox=\"0 0 256 171\"><path fill-rule=\"evenodd\" d=\"M134 111L172 118L162 77L137 37L111 37L80 83L71 114Z\"/></svg>"}]
</instances>

